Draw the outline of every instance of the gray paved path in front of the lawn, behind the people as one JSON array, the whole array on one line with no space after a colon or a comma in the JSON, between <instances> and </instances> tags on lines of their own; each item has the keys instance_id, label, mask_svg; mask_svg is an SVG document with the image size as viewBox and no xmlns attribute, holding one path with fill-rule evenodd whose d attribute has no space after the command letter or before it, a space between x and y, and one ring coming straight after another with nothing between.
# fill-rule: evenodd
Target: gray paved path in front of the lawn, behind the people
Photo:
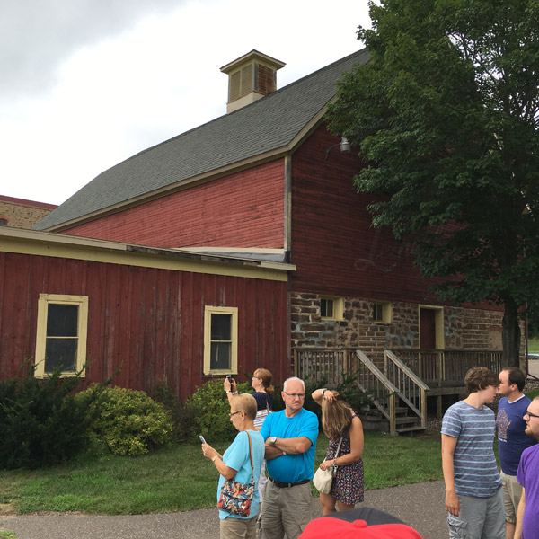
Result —
<instances>
[{"instance_id":1,"label":"gray paved path in front of the lawn, behind the people","mask_svg":"<svg viewBox=\"0 0 539 539\"><path fill-rule=\"evenodd\" d=\"M423 539L448 536L441 481L367 490L365 505L382 509L417 529ZM313 517L320 517L313 499ZM200 509L164 515L93 516L55 515L0 517L0 531L18 539L218 539L217 510Z\"/></svg>"}]
</instances>

